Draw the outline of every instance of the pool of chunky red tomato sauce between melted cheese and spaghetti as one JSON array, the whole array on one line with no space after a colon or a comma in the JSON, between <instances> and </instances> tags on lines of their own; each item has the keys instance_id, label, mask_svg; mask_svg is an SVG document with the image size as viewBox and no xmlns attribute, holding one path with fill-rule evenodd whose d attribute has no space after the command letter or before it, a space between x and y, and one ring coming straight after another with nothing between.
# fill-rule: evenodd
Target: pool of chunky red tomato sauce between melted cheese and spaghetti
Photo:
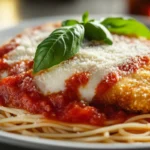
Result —
<instances>
[{"instance_id":1,"label":"pool of chunky red tomato sauce between melted cheese and spaghetti","mask_svg":"<svg viewBox=\"0 0 150 150\"><path fill-rule=\"evenodd\" d=\"M72 123L104 125L107 119L127 117L126 113L115 106L94 106L79 99L78 88L89 80L89 73L75 74L66 81L64 92L44 96L35 86L31 72L10 76L0 83L0 104L27 110L34 114ZM110 114L113 115L110 116Z\"/></svg>"}]
</instances>

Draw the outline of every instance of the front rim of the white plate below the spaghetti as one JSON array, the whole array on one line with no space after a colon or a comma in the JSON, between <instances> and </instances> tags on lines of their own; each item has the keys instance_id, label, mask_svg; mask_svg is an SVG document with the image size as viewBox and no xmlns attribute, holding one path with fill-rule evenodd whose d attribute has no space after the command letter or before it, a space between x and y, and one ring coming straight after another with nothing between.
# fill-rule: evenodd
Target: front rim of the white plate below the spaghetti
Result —
<instances>
[{"instance_id":1,"label":"front rim of the white plate below the spaghetti","mask_svg":"<svg viewBox=\"0 0 150 150\"><path fill-rule=\"evenodd\" d=\"M28 148L41 148L44 146L46 148L57 147L57 148L71 148L73 149L93 149L93 150L122 150L122 149L143 149L150 148L150 143L83 143L83 142L71 142L64 140L53 140L53 139L43 139L40 137L29 137L26 135L19 135L15 133L9 133L5 131L0 131L0 138L3 138L1 141L8 144L16 144L18 146L27 147L25 144L29 144ZM6 142L5 139L10 139L11 142ZM13 143L15 142L15 143ZM24 143L22 143L24 142ZM37 145L33 145L37 144ZM112 147L113 145L113 147Z\"/></svg>"}]
</instances>

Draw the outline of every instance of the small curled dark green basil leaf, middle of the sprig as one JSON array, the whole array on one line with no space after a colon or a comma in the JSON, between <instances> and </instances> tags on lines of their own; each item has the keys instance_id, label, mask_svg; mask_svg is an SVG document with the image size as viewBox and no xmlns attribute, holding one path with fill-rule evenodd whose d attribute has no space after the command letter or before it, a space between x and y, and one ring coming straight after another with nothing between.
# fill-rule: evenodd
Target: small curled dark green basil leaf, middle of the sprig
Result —
<instances>
[{"instance_id":1,"label":"small curled dark green basil leaf, middle of the sprig","mask_svg":"<svg viewBox=\"0 0 150 150\"><path fill-rule=\"evenodd\" d=\"M112 36L110 32L99 22L88 22L85 24L85 37L89 40L102 41L112 44Z\"/></svg>"}]
</instances>

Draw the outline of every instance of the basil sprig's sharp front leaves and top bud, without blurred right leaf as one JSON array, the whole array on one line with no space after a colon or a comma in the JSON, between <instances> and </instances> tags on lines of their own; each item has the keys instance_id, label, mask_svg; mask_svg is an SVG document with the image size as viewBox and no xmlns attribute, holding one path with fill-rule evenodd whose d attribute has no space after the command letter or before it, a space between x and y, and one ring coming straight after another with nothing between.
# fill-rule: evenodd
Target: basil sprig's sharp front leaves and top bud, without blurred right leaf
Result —
<instances>
[{"instance_id":1,"label":"basil sprig's sharp front leaves and top bud, without blurred right leaf","mask_svg":"<svg viewBox=\"0 0 150 150\"><path fill-rule=\"evenodd\" d=\"M82 22L74 19L63 21L63 27L53 31L38 45L34 57L33 73L50 68L74 56L78 52L84 36L89 40L100 40L112 44L109 31L93 21L89 20L88 12L83 14ZM90 31L89 24L92 24L93 33ZM85 29L86 34L84 34Z\"/></svg>"}]
</instances>

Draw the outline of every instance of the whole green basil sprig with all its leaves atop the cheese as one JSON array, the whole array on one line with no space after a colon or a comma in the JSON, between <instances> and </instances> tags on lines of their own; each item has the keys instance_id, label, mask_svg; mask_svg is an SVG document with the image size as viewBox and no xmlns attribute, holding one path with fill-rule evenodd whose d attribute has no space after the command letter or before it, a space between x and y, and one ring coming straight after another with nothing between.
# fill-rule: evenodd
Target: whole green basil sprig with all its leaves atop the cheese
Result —
<instances>
[{"instance_id":1,"label":"whole green basil sprig with all its leaves atop the cheese","mask_svg":"<svg viewBox=\"0 0 150 150\"><path fill-rule=\"evenodd\" d=\"M82 15L82 21L65 20L59 29L53 31L41 42L34 57L33 72L50 68L74 56L83 38L112 44L111 33L150 38L149 29L135 19L109 17L102 22L89 20L88 12ZM109 32L110 31L110 32Z\"/></svg>"}]
</instances>

